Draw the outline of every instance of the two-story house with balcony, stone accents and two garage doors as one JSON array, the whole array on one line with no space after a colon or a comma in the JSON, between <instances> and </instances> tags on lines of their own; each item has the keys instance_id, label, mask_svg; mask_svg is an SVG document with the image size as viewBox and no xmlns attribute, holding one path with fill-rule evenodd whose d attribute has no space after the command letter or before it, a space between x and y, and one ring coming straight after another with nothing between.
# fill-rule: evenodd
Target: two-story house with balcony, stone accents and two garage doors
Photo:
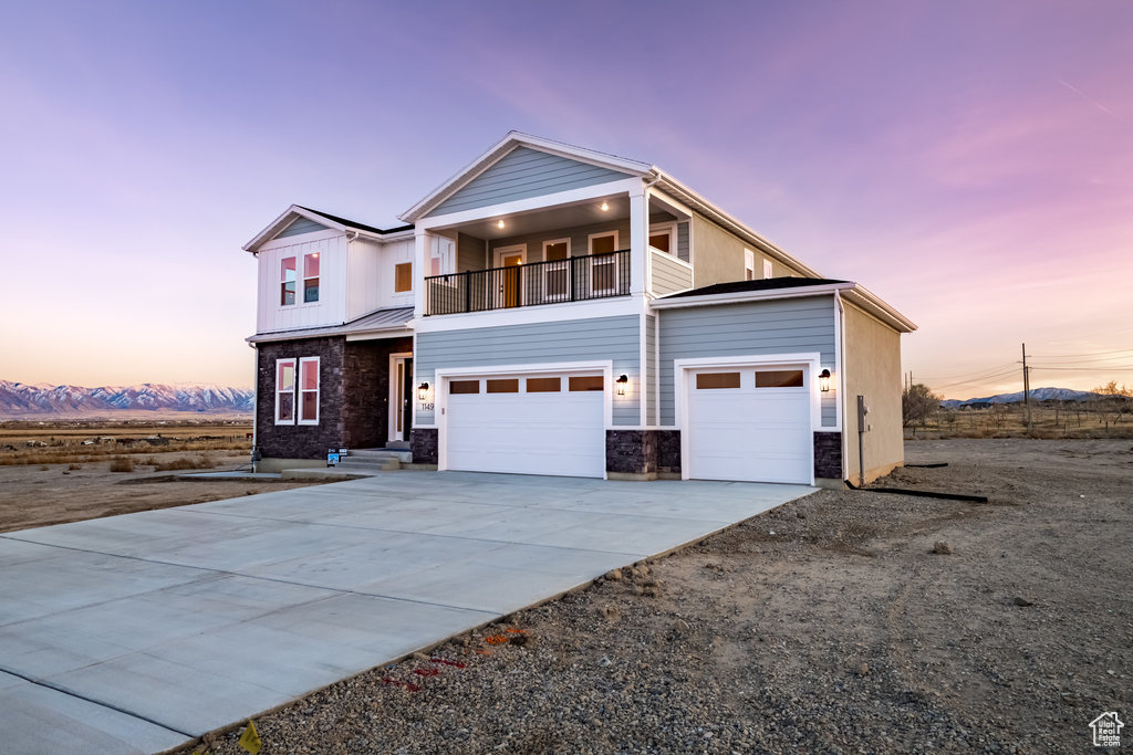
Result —
<instances>
[{"instance_id":1,"label":"two-story house with balcony, stone accents and two garage doors","mask_svg":"<svg viewBox=\"0 0 1133 755\"><path fill-rule=\"evenodd\" d=\"M291 206L245 246L269 467L391 445L440 470L841 486L902 463L915 326L654 165L511 132L400 217Z\"/></svg>"}]
</instances>

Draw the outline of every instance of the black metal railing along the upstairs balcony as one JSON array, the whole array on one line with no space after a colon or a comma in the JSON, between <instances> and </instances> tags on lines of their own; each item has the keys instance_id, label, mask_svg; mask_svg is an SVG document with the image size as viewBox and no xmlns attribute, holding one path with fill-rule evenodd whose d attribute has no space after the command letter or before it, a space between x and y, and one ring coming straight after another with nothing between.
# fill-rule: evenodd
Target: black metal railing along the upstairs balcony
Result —
<instances>
[{"instance_id":1,"label":"black metal railing along the upstairs balcony","mask_svg":"<svg viewBox=\"0 0 1133 755\"><path fill-rule=\"evenodd\" d=\"M624 297L630 250L425 278L425 314L454 315Z\"/></svg>"}]
</instances>

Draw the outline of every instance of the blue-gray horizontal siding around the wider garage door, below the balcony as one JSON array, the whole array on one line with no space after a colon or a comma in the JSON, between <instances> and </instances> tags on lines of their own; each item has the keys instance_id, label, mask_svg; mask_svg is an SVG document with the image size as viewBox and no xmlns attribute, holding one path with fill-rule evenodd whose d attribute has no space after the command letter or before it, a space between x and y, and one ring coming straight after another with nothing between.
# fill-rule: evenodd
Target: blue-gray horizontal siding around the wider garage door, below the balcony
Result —
<instances>
[{"instance_id":1,"label":"blue-gray horizontal siding around the wider garage door, below the balcony","mask_svg":"<svg viewBox=\"0 0 1133 755\"><path fill-rule=\"evenodd\" d=\"M640 318L596 317L530 323L448 333L421 333L414 354L416 380L436 381L436 370L493 364L537 364L613 360L614 376L640 385ZM640 424L640 391L614 396L613 423ZM433 424L434 412L417 412L417 424Z\"/></svg>"}]
</instances>

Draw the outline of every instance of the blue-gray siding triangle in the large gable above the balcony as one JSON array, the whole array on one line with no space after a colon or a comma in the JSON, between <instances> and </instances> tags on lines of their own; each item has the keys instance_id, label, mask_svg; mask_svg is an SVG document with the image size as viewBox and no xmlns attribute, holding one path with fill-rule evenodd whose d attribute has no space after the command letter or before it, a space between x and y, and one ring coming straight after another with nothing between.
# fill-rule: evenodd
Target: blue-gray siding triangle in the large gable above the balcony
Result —
<instances>
[{"instance_id":1,"label":"blue-gray siding triangle in the large gable above the balcony","mask_svg":"<svg viewBox=\"0 0 1133 755\"><path fill-rule=\"evenodd\" d=\"M628 178L628 174L608 168L590 165L529 147L516 147L457 194L437 205L428 215L446 215L462 209L487 207L623 178Z\"/></svg>"}]
</instances>

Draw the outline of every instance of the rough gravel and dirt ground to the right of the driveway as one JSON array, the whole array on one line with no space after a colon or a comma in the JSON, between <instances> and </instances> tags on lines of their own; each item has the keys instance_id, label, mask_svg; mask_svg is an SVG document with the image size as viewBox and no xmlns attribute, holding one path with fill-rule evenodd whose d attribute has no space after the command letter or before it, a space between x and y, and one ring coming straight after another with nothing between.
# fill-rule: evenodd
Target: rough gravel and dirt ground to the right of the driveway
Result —
<instances>
[{"instance_id":1,"label":"rough gravel and dirt ground to the right of the driveway","mask_svg":"<svg viewBox=\"0 0 1133 755\"><path fill-rule=\"evenodd\" d=\"M1128 440L912 441L256 720L262 753L1083 752L1133 718ZM202 752L244 753L240 730Z\"/></svg>"}]
</instances>

